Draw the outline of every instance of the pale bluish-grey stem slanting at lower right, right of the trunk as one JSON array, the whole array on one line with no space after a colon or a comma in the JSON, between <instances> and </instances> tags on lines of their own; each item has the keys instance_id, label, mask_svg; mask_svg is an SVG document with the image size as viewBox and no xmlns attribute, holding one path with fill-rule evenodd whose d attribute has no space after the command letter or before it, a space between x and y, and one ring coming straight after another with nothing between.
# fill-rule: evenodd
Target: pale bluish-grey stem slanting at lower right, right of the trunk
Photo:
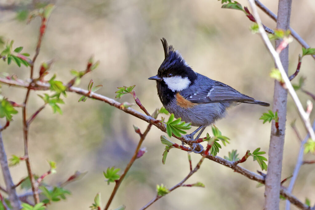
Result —
<instances>
[{"instance_id":1,"label":"pale bluish-grey stem slanting at lower right, right of the trunk","mask_svg":"<svg viewBox=\"0 0 315 210\"><path fill-rule=\"evenodd\" d=\"M315 120L313 122L313 130L315 130ZM306 137L304 138L304 140L301 142L301 145L300 145L300 151L299 151L299 155L297 157L297 160L296 160L296 164L295 164L295 167L294 167L294 170L293 170L293 176L290 180L290 184L288 186L288 192L291 193L292 190L293 190L293 187L294 187L294 184L295 184L295 181L297 179L297 176L299 175L299 172L300 172L300 168L302 166L302 164L304 163L303 162L303 157L304 157L304 145L305 143L307 142L307 140L310 138L310 135L309 133L307 133ZM286 202L286 209L290 209L290 203L289 202Z\"/></svg>"}]
</instances>

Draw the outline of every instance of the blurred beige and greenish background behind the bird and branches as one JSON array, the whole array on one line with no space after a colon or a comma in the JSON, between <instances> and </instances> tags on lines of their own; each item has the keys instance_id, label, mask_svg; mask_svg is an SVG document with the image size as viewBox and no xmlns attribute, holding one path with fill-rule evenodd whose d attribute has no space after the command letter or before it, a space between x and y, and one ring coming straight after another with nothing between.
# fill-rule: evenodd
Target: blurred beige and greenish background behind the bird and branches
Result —
<instances>
[{"instance_id":1,"label":"blurred beige and greenish background behind the bird and branches","mask_svg":"<svg viewBox=\"0 0 315 210\"><path fill-rule=\"evenodd\" d=\"M31 7L36 1L0 1L0 36L5 41L14 40L14 47L23 46L23 52L31 57L35 51L40 18L29 25L17 18L17 10ZM37 1L38 2L38 1ZM221 1L167 1L167 0L67 0L53 1L56 5L51 14L44 35L41 52L35 64L35 76L40 63L54 59L53 68L46 79L57 74L57 80L68 82L72 79L70 70L82 71L87 60L94 54L100 66L83 77L78 85L87 88L90 79L102 84L98 93L114 98L117 87L136 85L135 91L149 112L162 106L157 96L156 84L148 77L157 73L164 59L160 38L179 50L193 70L212 79L224 82L243 94L272 104L274 81L269 77L273 61L259 35L249 30L250 22L243 12L221 9ZM240 0L243 6L247 1ZM262 0L274 13L277 1ZM12 5L14 7L11 7ZM10 6L11 5L11 6ZM260 11L263 23L275 28L276 24ZM315 46L315 2L293 1L291 27L311 46ZM297 65L301 46L290 44L289 74ZM1 72L16 74L21 79L29 77L29 69L16 65L9 67L0 62ZM315 93L315 62L311 56L303 58L300 77L306 77L304 88ZM22 103L26 90L2 87L2 94L17 103ZM43 105L42 99L32 93L28 102L28 115ZM309 96L298 92L302 104ZM47 184L65 181L76 170L88 171L80 181L71 183L66 189L72 192L66 201L48 206L48 209L88 209L97 192L101 192L103 205L106 204L114 184L107 185L102 172L107 167L124 169L129 162L139 135L132 125L141 131L147 123L124 113L108 104L88 99L78 103L77 94L69 93L61 105L63 115L53 114L46 107L31 124L29 153L34 173L43 174L49 170L46 160L57 162L57 173L45 178ZM133 103L131 95L125 95L120 102ZM137 106L134 106L141 111ZM241 104L228 111L225 119L216 123L231 143L223 147L219 156L237 149L240 157L246 150L268 151L270 124L263 124L259 117L268 108L258 105ZM23 136L21 110L14 121L3 132L7 155L22 156ZM313 112L314 113L314 112ZM288 177L295 166L300 142L290 123L296 120L301 136L306 135L295 105L289 96L287 129L284 148L283 179ZM311 115L314 119L314 114ZM2 121L2 124L4 121ZM211 128L206 132L211 134ZM206 133L205 132L205 133ZM204 133L204 134L205 134ZM111 208L121 204L127 209L139 209L156 195L156 184L167 187L180 182L189 173L187 154L170 150L166 164L162 164L165 145L160 142L160 130L152 127L143 146L147 153L136 160L114 198ZM172 141L180 143L172 138ZM266 154L267 157L267 154ZM193 167L200 155L192 154ZM306 160L314 156L306 155ZM241 164L253 172L261 170L252 158ZM14 182L27 176L24 163L11 168ZM121 173L120 173L121 174ZM2 178L1 178L2 179ZM315 202L315 168L303 165L293 193L301 201L306 197ZM234 173L233 170L216 162L204 161L198 173L187 184L200 181L205 188L182 187L154 203L149 209L262 209L264 187ZM3 180L0 181L4 185ZM285 183L284 185L288 185ZM21 192L19 188L19 192ZM285 201L281 201L281 209ZM294 207L292 209L295 209Z\"/></svg>"}]
</instances>

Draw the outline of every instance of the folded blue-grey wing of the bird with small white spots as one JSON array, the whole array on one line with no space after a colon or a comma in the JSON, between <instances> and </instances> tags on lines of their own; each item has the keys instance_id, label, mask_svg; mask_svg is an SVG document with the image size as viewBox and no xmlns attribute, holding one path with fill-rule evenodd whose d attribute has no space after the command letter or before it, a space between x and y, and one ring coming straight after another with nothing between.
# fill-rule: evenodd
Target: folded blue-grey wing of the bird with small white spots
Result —
<instances>
[{"instance_id":1,"label":"folded blue-grey wing of the bird with small white spots","mask_svg":"<svg viewBox=\"0 0 315 210\"><path fill-rule=\"evenodd\" d=\"M187 88L189 89L189 88ZM192 88L188 91L181 91L180 94L192 103L215 103L215 102L249 102L255 101L247 95L241 94L234 88L218 81L213 81L206 88Z\"/></svg>"}]
</instances>

